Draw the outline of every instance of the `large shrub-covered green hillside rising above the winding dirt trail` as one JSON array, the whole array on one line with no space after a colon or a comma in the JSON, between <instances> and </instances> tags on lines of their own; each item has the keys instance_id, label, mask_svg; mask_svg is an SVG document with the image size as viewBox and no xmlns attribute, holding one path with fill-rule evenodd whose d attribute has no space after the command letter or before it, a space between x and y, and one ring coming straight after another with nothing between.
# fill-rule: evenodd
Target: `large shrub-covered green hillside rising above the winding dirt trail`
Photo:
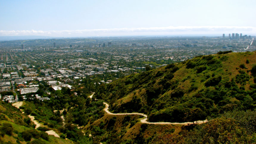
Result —
<instances>
[{"instance_id":1,"label":"large shrub-covered green hillside rising above the winding dirt trail","mask_svg":"<svg viewBox=\"0 0 256 144\"><path fill-rule=\"evenodd\" d=\"M205 120L232 109L254 109L255 57L255 52L198 56L102 84L94 96L114 113L141 112L150 122Z\"/></svg>"}]
</instances>

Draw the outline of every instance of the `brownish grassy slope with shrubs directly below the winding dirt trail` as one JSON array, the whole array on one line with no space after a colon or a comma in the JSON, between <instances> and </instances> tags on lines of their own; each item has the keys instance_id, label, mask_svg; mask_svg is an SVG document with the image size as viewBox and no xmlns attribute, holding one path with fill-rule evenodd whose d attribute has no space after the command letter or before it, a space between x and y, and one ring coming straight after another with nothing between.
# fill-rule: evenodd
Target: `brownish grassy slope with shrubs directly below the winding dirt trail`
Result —
<instances>
[{"instance_id":1,"label":"brownish grassy slope with shrubs directly below the winding dirt trail","mask_svg":"<svg viewBox=\"0 0 256 144\"><path fill-rule=\"evenodd\" d=\"M104 126L101 127L103 130L103 134L100 137L99 142L106 142L106 143L120 143L126 140L133 140L136 141L138 136L142 134L144 140L151 140L152 137L156 134L162 134L170 129L175 129L174 133L179 133L181 130L181 125L154 125L154 124L143 124L139 122L138 115L128 115L129 118L127 119L127 115L104 115L104 117L96 120L90 126L85 127L83 130L90 130L92 132L92 137L98 137L101 134L95 134L94 129L95 127L101 127L101 123L104 123ZM111 119L115 118L114 123L110 123ZM131 126L132 121L135 121L135 124ZM126 122L126 123L125 123ZM146 126L145 129L141 130L143 127L142 125ZM113 126L113 127L112 127ZM113 136L114 134L114 136ZM141 139L141 138L140 138ZM119 140L119 141L115 141Z\"/></svg>"}]
</instances>

